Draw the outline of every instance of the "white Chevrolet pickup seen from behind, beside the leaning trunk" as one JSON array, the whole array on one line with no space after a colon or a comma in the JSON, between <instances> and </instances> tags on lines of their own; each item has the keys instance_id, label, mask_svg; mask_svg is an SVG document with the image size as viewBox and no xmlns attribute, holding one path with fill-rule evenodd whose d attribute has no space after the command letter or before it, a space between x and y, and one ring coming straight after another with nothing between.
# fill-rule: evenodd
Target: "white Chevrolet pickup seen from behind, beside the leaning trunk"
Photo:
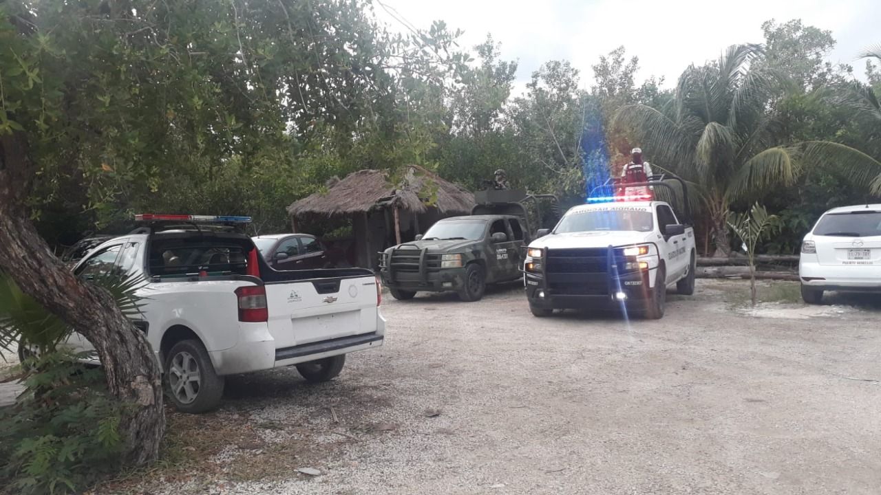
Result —
<instances>
[{"instance_id":1,"label":"white Chevrolet pickup seen from behind, beside the leaning trunk","mask_svg":"<svg viewBox=\"0 0 881 495\"><path fill-rule=\"evenodd\" d=\"M224 376L297 366L330 380L345 354L382 345L381 287L370 270L273 270L233 224L247 217L138 216L148 226L93 249L85 279L144 277L143 321L178 410L220 402ZM217 224L226 224L219 227ZM82 336L74 351L93 351Z\"/></svg>"}]
</instances>

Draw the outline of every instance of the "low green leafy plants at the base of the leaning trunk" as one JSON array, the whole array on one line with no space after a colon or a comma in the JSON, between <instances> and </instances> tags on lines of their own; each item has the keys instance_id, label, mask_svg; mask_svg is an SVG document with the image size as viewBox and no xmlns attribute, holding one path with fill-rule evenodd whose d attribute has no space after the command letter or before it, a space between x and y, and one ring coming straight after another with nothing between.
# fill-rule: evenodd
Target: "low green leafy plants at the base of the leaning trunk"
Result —
<instances>
[{"instance_id":1,"label":"low green leafy plants at the base of the leaning trunk","mask_svg":"<svg viewBox=\"0 0 881 495\"><path fill-rule=\"evenodd\" d=\"M120 466L121 404L74 356L31 359L26 393L0 410L0 480L23 495L83 491Z\"/></svg>"}]
</instances>

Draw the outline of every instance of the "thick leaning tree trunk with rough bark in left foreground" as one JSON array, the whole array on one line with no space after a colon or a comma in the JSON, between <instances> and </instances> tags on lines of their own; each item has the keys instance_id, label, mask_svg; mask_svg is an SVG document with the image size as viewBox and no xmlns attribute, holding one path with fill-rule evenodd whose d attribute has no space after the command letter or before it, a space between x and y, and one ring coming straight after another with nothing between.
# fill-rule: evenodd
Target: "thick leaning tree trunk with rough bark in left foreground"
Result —
<instances>
[{"instance_id":1,"label":"thick leaning tree trunk with rough bark in left foreground","mask_svg":"<svg viewBox=\"0 0 881 495\"><path fill-rule=\"evenodd\" d=\"M113 297L82 284L37 233L25 206L32 177L25 135L0 135L0 269L95 346L107 389L135 406L123 410L124 461L152 462L159 456L165 431L159 365L152 348Z\"/></svg>"}]
</instances>

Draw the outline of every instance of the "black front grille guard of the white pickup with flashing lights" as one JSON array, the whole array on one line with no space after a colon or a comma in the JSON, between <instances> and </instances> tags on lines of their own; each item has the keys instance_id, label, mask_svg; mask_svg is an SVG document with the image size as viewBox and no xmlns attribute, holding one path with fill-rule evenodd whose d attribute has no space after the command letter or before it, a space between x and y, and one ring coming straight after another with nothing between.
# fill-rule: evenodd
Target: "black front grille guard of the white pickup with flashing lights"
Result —
<instances>
[{"instance_id":1,"label":"black front grille guard of the white pickup with flashing lights","mask_svg":"<svg viewBox=\"0 0 881 495\"><path fill-rule=\"evenodd\" d=\"M548 249L544 273L554 295L602 296L609 293L609 256L607 247ZM623 257L612 262L623 263Z\"/></svg>"}]
</instances>

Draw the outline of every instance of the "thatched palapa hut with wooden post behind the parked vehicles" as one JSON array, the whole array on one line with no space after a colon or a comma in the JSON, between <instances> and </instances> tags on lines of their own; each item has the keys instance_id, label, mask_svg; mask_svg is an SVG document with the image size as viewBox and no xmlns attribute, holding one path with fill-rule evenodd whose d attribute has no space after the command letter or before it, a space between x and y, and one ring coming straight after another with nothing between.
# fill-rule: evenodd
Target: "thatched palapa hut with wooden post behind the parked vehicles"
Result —
<instances>
[{"instance_id":1,"label":"thatched palapa hut with wooden post behind the parked vehicles","mask_svg":"<svg viewBox=\"0 0 881 495\"><path fill-rule=\"evenodd\" d=\"M361 170L288 207L293 229L315 220L351 219L355 259L375 268L377 253L413 240L440 218L468 215L474 195L417 165ZM392 236L392 233L394 236Z\"/></svg>"}]
</instances>

